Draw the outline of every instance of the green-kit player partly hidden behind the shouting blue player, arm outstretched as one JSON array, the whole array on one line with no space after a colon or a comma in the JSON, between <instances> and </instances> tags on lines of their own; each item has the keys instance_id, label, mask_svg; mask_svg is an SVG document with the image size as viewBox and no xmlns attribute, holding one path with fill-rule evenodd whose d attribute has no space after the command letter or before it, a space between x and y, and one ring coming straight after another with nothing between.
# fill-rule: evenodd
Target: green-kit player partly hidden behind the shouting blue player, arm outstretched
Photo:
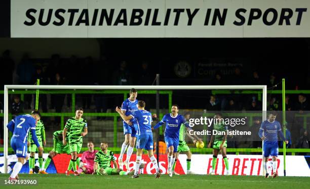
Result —
<instances>
[{"instance_id":1,"label":"green-kit player partly hidden behind the shouting blue player, arm outstretched","mask_svg":"<svg viewBox=\"0 0 310 189\"><path fill-rule=\"evenodd\" d=\"M189 117L190 117L189 112L184 113L184 118L186 119L186 121L189 120ZM195 138L192 137L192 136L188 133L188 131L187 131L185 125L184 125L184 124L181 125L181 127L180 127L180 134L179 134L179 146L178 146L178 151L177 151L176 156L175 156L175 162L174 162L174 164L173 164L173 166L172 166L173 174L176 174L176 175L179 175L179 174L178 174L177 172L174 171L174 168L175 168L175 165L176 165L176 162L177 162L177 159L178 159L178 157L179 157L180 152L185 152L185 153L186 153L186 156L187 156L187 159L186 159L186 168L187 168L186 174L195 174L195 173L193 173L193 172L190 170L191 152L190 152L190 150L189 150L189 148L188 148L188 146L187 146L187 144L186 144L185 135L187 135L187 136L193 141L193 143L194 143L195 145L196 145L197 140L202 141L202 139L199 138L199 137L196 136L196 135L193 135L193 136L195 136Z\"/></svg>"}]
</instances>

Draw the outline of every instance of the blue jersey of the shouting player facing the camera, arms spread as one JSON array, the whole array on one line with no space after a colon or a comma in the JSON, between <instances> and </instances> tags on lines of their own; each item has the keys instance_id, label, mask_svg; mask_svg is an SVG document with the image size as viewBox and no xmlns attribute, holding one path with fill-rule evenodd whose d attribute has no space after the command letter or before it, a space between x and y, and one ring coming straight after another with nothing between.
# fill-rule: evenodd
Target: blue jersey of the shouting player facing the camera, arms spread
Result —
<instances>
[{"instance_id":1,"label":"blue jersey of the shouting player facing the camera, arms spread","mask_svg":"<svg viewBox=\"0 0 310 189\"><path fill-rule=\"evenodd\" d=\"M179 138L181 124L185 124L186 119L180 114L176 117L172 117L171 114L166 114L164 115L162 122L166 123L165 137Z\"/></svg>"}]
</instances>

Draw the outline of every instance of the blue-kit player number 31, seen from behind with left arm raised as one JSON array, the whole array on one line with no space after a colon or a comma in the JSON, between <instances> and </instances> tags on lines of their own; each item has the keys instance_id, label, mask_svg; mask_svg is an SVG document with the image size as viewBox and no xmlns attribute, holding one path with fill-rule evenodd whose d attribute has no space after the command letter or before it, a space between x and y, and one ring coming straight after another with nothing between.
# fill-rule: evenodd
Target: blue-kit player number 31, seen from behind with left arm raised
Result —
<instances>
[{"instance_id":1,"label":"blue-kit player number 31, seen from behind with left arm raised","mask_svg":"<svg viewBox=\"0 0 310 189\"><path fill-rule=\"evenodd\" d=\"M150 112L144 110L144 108L145 108L145 102L139 101L138 102L139 110L135 111L129 116L126 116L125 114L123 114L121 109L119 109L118 107L115 108L115 111L117 111L124 120L130 120L134 118L137 121L137 126L138 126L137 158L136 158L136 165L135 165L135 173L134 175L132 175L132 178L139 177L138 172L139 172L139 167L141 165L143 149L148 151L149 159L153 163L153 166L156 168L155 177L159 178L161 176L161 171L158 167L157 160L153 155L153 134L151 130L152 115ZM153 117L156 117L156 116L153 116Z\"/></svg>"}]
</instances>

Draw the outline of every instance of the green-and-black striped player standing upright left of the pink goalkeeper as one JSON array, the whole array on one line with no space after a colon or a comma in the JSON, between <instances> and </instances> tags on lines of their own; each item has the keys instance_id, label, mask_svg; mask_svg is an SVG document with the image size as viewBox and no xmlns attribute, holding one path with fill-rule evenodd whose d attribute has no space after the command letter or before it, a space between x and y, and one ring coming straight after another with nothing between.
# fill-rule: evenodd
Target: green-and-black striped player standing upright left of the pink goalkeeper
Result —
<instances>
[{"instance_id":1,"label":"green-and-black striped player standing upright left of the pink goalkeeper","mask_svg":"<svg viewBox=\"0 0 310 189\"><path fill-rule=\"evenodd\" d=\"M76 164L80 165L81 158L78 158L83 145L83 136L87 134L87 121L82 118L84 113L83 108L78 108L75 111L75 117L67 120L65 128L62 132L62 144L67 145L66 133L69 130L68 143L70 147L71 160L66 170L66 175L69 175L69 171L73 168L74 176L80 175L76 170Z\"/></svg>"}]
</instances>

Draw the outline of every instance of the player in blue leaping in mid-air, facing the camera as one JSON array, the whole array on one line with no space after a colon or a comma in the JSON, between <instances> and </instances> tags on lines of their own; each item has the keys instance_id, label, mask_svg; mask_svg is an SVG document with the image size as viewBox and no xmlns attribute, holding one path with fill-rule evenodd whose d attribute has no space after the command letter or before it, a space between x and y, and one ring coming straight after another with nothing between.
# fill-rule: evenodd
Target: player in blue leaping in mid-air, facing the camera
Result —
<instances>
[{"instance_id":1,"label":"player in blue leaping in mid-air, facing the camera","mask_svg":"<svg viewBox=\"0 0 310 189\"><path fill-rule=\"evenodd\" d=\"M122 104L122 113L125 114L126 116L138 110L137 90L134 88L130 89L129 95L130 97L126 99ZM134 119L126 120L126 121L124 120L123 127L124 127L125 141L122 145L122 149L121 149L121 153L119 157L119 165L120 167L123 166L123 155L126 151L127 145L129 144L129 147L127 149L126 161L124 162L126 169L128 170L129 160L132 155L132 152L133 152L133 149L136 143L136 139L137 139L137 136L136 136L137 129L136 129L135 120Z\"/></svg>"}]
</instances>

